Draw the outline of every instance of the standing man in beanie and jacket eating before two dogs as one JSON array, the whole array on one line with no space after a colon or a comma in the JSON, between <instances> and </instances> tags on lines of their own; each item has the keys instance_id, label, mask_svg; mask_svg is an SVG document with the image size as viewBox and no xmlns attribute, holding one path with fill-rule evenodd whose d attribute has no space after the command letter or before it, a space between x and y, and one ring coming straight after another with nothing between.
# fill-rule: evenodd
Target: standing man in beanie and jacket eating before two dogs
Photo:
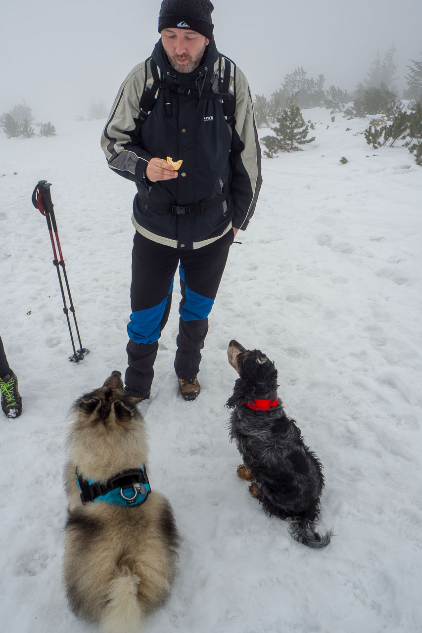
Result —
<instances>
[{"instance_id":1,"label":"standing man in beanie and jacket eating before two dogs","mask_svg":"<svg viewBox=\"0 0 422 633\"><path fill-rule=\"evenodd\" d=\"M225 86L236 108L225 116L229 95L221 90L213 9L209 0L163 0L161 39L122 84L101 140L110 168L137 186L125 373L125 391L136 401L150 396L177 265L182 299L174 367L182 398L198 396L208 314L262 182L250 89L233 62ZM182 160L179 171L167 156Z\"/></svg>"}]
</instances>

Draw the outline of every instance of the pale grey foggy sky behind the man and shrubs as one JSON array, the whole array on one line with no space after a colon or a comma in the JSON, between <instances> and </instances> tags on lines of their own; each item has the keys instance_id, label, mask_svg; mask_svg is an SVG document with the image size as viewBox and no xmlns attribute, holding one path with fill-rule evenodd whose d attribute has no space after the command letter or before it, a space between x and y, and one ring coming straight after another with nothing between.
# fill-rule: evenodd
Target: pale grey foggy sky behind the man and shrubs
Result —
<instances>
[{"instance_id":1,"label":"pale grey foggy sky behind the man and shrubs","mask_svg":"<svg viewBox=\"0 0 422 633\"><path fill-rule=\"evenodd\" d=\"M395 44L397 82L422 51L421 0L213 0L217 48L236 61L253 96L269 97L303 66L351 91L377 51ZM151 54L160 0L0 0L0 113L16 103L36 121L86 116L112 106L133 66Z\"/></svg>"}]
</instances>

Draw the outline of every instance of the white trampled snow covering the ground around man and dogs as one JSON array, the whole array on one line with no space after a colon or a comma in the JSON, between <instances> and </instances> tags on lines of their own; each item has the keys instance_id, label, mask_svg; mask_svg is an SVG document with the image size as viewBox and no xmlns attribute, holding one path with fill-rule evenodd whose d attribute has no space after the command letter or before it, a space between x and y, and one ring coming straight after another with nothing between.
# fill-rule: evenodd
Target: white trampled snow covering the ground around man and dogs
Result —
<instances>
[{"instance_id":1,"label":"white trampled snow covering the ground around man and dogs","mask_svg":"<svg viewBox=\"0 0 422 633\"><path fill-rule=\"evenodd\" d=\"M364 120L333 123L321 109L304 118L316 142L263 160L257 211L231 249L192 403L177 396L173 370L175 284L141 405L151 485L172 502L183 539L174 592L149 618L151 633L422 630L422 169L402 147L371 149L357 134ZM107 168L103 123L0 137L0 333L24 406L14 422L0 416L8 633L96 630L75 620L61 588L61 473L70 404L126 362L134 185ZM30 201L41 179L53 183L91 349L77 365L46 222ZM236 477L224 407L236 379L232 338L275 361L286 411L323 462L319 528L336 535L323 551L293 541Z\"/></svg>"}]
</instances>

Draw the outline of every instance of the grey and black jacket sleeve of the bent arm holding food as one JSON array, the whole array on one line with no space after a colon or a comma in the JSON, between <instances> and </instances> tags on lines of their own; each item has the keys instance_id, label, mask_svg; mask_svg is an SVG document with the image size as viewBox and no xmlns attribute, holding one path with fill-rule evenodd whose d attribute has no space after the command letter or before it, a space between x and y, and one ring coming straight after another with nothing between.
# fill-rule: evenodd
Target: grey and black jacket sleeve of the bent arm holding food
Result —
<instances>
[{"instance_id":1,"label":"grey and black jacket sleeve of the bent arm holding food","mask_svg":"<svg viewBox=\"0 0 422 633\"><path fill-rule=\"evenodd\" d=\"M139 99L144 90L145 69L141 63L125 78L113 103L101 136L101 147L108 166L129 180L138 182L153 158L139 141Z\"/></svg>"}]
</instances>

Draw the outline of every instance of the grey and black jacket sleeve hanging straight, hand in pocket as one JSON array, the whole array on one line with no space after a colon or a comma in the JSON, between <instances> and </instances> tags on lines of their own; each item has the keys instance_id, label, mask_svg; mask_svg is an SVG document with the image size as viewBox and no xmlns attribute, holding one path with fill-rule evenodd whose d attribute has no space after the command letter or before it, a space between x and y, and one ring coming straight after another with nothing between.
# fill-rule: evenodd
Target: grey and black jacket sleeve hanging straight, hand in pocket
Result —
<instances>
[{"instance_id":1,"label":"grey and black jacket sleeve hanging straight, hand in pocket","mask_svg":"<svg viewBox=\"0 0 422 633\"><path fill-rule=\"evenodd\" d=\"M245 230L257 204L261 177L261 150L252 96L245 75L236 68L235 125L231 142L232 180L230 186L234 204L233 226Z\"/></svg>"}]
</instances>

